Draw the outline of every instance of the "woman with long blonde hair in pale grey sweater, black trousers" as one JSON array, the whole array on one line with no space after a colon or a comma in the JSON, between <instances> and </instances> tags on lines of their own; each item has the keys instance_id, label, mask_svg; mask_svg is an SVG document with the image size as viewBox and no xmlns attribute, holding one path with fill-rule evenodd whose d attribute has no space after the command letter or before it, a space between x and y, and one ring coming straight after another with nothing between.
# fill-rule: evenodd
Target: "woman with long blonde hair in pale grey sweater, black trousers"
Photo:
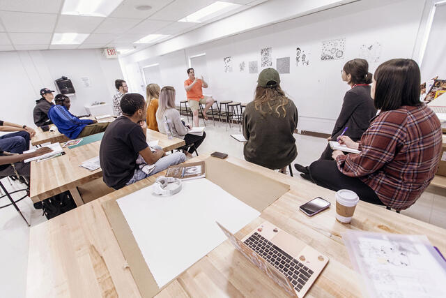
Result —
<instances>
[{"instance_id":1,"label":"woman with long blonde hair in pale grey sweater, black trousers","mask_svg":"<svg viewBox=\"0 0 446 298\"><path fill-rule=\"evenodd\" d=\"M167 134L166 120L171 121L172 135L183 139L186 146L194 144L190 147L189 151L184 150L184 154L192 157L192 153L197 149L206 137L206 133L203 135L191 135L189 133L190 126L185 126L181 121L180 112L175 108L175 88L171 86L162 87L160 92L160 99L158 100L158 110L156 112L156 121L158 123L158 129L160 133Z\"/></svg>"}]
</instances>

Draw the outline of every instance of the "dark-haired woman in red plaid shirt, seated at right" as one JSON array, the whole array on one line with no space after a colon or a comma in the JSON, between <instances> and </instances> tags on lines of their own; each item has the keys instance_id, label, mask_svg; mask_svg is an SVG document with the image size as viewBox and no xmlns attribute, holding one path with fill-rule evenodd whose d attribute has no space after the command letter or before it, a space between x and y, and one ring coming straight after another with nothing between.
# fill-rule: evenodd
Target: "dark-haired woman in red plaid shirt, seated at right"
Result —
<instances>
[{"instance_id":1,"label":"dark-haired woman in red plaid shirt, seated at right","mask_svg":"<svg viewBox=\"0 0 446 298\"><path fill-rule=\"evenodd\" d=\"M392 59L378 66L371 98L380 113L359 142L339 143L359 149L334 161L314 161L310 177L332 191L349 189L360 200L397 211L414 204L436 173L442 148L440 121L420 102L420 68L412 59Z\"/></svg>"}]
</instances>

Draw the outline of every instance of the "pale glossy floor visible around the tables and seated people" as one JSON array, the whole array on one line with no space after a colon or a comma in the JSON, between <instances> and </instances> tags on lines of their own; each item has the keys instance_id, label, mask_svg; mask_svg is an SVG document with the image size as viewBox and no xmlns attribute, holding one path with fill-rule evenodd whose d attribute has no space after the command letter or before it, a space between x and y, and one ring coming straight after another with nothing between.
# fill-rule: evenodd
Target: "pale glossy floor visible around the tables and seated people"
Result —
<instances>
[{"instance_id":1,"label":"pale glossy floor visible around the tables and seated people","mask_svg":"<svg viewBox=\"0 0 446 298\"><path fill-rule=\"evenodd\" d=\"M200 121L201 125L202 123ZM199 153L221 151L243 158L243 143L230 136L234 133L240 133L239 126L228 128L226 131L225 124L216 123L213 126L212 121L208 121L207 137L199 148ZM299 152L295 162L302 165L308 165L316 160L327 144L326 140L318 137L305 135L295 135L295 137ZM295 170L293 172L295 179L302 179ZM8 189L17 188L17 185L8 179L3 179L2 182ZM314 193L314 197L317 195ZM6 201L6 198L2 198L0 206L6 204ZM22 200L18 205L26 218L29 218L31 226L46 221L41 210L33 209L29 198ZM412 207L401 213L446 228L446 190L430 186ZM13 207L0 209L0 214L0 297L24 297L29 228Z\"/></svg>"}]
</instances>

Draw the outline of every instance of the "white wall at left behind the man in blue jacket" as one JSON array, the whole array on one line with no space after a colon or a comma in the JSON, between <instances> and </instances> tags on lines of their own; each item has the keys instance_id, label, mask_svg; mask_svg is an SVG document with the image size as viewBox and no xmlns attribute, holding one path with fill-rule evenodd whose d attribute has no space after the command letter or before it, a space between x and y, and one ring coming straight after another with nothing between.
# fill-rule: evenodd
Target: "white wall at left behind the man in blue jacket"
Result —
<instances>
[{"instance_id":1,"label":"white wall at left behind the man in blue jacket","mask_svg":"<svg viewBox=\"0 0 446 298\"><path fill-rule=\"evenodd\" d=\"M34 126L33 107L40 89L57 90L54 80L62 75L76 90L70 96L73 114L85 114L84 106L95 101L112 103L114 80L123 77L118 60L106 59L100 50L0 52L0 65L0 119L29 126ZM81 77L89 77L91 87L84 87Z\"/></svg>"}]
</instances>

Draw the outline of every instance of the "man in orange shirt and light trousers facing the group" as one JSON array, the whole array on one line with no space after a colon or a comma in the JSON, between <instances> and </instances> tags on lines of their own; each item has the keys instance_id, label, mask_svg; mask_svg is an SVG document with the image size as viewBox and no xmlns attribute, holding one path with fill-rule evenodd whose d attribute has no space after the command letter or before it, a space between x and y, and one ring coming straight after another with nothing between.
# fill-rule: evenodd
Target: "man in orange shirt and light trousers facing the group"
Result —
<instances>
[{"instance_id":1,"label":"man in orange shirt and light trousers facing the group","mask_svg":"<svg viewBox=\"0 0 446 298\"><path fill-rule=\"evenodd\" d=\"M203 110L203 117L205 120L208 120L206 112L209 110L209 107L213 105L214 98L210 96L203 96L202 88L208 88L208 83L204 82L203 76L201 76L201 79L195 77L194 68L188 68L187 75L189 75L189 78L184 81L184 89L186 89L187 101L189 102L190 110L192 110L192 114L194 115L194 126L199 126L198 110L200 109L200 103L206 105Z\"/></svg>"}]
</instances>

